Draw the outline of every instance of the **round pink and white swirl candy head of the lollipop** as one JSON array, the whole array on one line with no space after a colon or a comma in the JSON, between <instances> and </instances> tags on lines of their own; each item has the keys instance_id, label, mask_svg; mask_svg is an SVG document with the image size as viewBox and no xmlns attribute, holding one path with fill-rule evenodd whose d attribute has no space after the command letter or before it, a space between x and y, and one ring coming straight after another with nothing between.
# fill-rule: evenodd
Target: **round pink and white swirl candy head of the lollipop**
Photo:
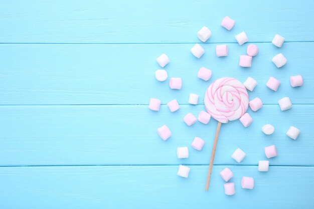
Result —
<instances>
[{"instance_id":1,"label":"round pink and white swirl candy head of the lollipop","mask_svg":"<svg viewBox=\"0 0 314 209\"><path fill-rule=\"evenodd\" d=\"M221 123L240 118L249 105L249 96L243 84L234 78L220 78L206 90L207 112Z\"/></svg>"}]
</instances>

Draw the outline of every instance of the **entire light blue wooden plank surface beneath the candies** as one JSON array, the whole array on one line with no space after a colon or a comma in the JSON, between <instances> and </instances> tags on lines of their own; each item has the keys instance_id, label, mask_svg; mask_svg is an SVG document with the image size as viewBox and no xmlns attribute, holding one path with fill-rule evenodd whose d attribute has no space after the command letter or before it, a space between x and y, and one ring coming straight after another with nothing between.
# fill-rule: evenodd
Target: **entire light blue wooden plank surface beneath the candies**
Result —
<instances>
[{"instance_id":1,"label":"entire light blue wooden plank surface beneath the candies","mask_svg":"<svg viewBox=\"0 0 314 209\"><path fill-rule=\"evenodd\" d=\"M0 208L313 208L314 186L314 4L312 1L0 1ZM231 31L220 26L226 15ZM201 59L190 53L203 26L213 32ZM245 31L260 49L253 66L238 66L246 46L234 35ZM270 42L286 38L282 48ZM229 56L215 47L227 43ZM155 58L169 55L170 77L181 77L180 91L154 79ZM271 58L283 53L288 63L277 69ZM208 82L200 67L213 71ZM304 85L291 88L289 77L301 74ZM248 112L254 121L221 129L210 190L205 180L217 121L188 127L182 118L204 110L206 87L230 76L258 85L250 99L264 107ZM265 83L281 81L277 92ZM199 105L187 103L200 94ZM277 101L289 96L292 109ZM163 101L160 112L149 98ZM182 108L165 105L178 99ZM262 125L275 126L264 135ZM167 124L173 136L163 141L156 128ZM285 135L301 130L297 140ZM190 144L205 139L202 151ZM275 144L278 156L269 172L258 172L263 148ZM176 148L188 146L189 159ZM247 157L230 155L240 147ZM178 165L191 167L188 179ZM220 170L229 167L236 194L227 196ZM255 179L253 190L240 186Z\"/></svg>"}]
</instances>

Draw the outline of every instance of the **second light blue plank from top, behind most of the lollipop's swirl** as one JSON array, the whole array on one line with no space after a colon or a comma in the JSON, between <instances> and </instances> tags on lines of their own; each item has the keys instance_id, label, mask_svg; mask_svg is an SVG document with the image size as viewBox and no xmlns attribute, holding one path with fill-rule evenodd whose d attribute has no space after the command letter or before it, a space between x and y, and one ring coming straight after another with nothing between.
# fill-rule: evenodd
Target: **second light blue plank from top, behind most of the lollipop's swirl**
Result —
<instances>
[{"instance_id":1,"label":"second light blue plank from top, behind most of the lollipop's swirl","mask_svg":"<svg viewBox=\"0 0 314 209\"><path fill-rule=\"evenodd\" d=\"M187 104L189 93L200 95L202 103L209 84L220 77L244 82L248 76L259 83L250 98L277 104L289 96L294 104L314 104L314 43L285 43L282 48L257 44L260 54L252 68L239 67L246 45L229 44L229 56L218 58L214 44L203 45L206 53L195 58L193 44L166 45L0 45L0 104L147 104L160 98L163 104L178 99ZM167 53L169 77L181 77L183 88L171 90L168 82L158 82L155 58ZM178 53L181 52L181 53ZM302 52L300 54L300 52ZM287 64L277 69L271 59L283 53ZM212 69L209 82L197 78L200 67ZM304 86L292 88L289 78L301 74ZM277 92L266 87L270 76L281 81Z\"/></svg>"}]
</instances>

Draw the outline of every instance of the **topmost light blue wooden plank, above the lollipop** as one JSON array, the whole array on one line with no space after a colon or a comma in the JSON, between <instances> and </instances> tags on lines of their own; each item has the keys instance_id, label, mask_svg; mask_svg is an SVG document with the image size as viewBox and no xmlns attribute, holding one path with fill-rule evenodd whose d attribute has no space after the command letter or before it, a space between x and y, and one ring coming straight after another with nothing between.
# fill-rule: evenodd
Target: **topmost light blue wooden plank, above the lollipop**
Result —
<instances>
[{"instance_id":1,"label":"topmost light blue wooden plank, above the lollipop","mask_svg":"<svg viewBox=\"0 0 314 209\"><path fill-rule=\"evenodd\" d=\"M314 41L312 2L262 1L1 1L2 43L200 42L205 25L211 42L235 42L245 31L252 42ZM253 15L254 14L254 15ZM232 31L220 26L230 16Z\"/></svg>"}]
</instances>

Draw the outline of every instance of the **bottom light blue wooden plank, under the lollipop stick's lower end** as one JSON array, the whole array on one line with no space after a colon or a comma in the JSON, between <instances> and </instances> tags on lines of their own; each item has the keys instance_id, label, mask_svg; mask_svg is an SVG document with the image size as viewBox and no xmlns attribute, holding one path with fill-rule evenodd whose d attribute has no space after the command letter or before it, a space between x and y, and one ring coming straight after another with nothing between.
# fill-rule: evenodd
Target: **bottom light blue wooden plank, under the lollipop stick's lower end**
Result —
<instances>
[{"instance_id":1,"label":"bottom light blue wooden plank, under the lollipop stick's lower end","mask_svg":"<svg viewBox=\"0 0 314 209\"><path fill-rule=\"evenodd\" d=\"M225 181L214 166L205 191L207 166L193 165L189 178L177 176L178 166L47 166L0 167L1 208L300 208L314 207L314 167L229 166L236 185L224 194ZM252 176L253 190L241 188ZM121 201L123 198L123 201ZM17 201L17 199L19 201Z\"/></svg>"}]
</instances>

